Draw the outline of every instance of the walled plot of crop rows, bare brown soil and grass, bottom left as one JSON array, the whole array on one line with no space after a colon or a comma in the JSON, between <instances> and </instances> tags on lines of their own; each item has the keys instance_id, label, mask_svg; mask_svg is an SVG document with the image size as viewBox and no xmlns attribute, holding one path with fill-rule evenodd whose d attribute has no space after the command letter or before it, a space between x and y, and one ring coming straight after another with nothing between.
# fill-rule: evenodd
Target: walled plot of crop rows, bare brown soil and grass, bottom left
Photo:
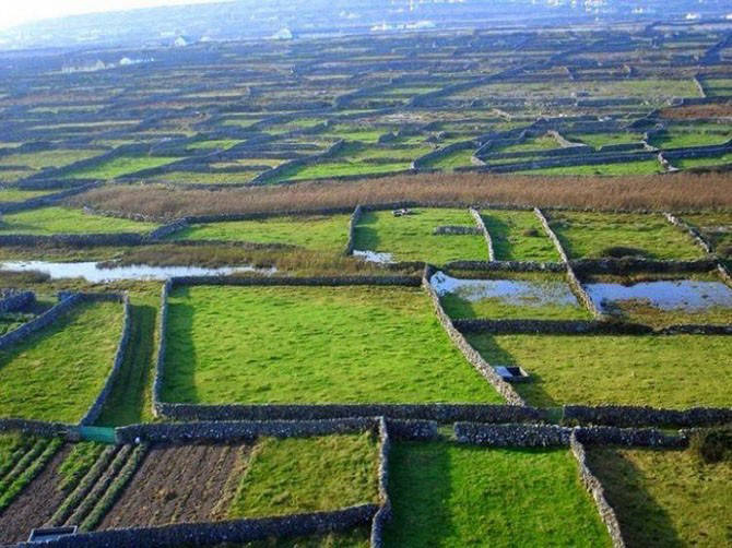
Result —
<instances>
[{"instance_id":1,"label":"walled plot of crop rows, bare brown soil and grass, bottom left","mask_svg":"<svg viewBox=\"0 0 732 548\"><path fill-rule=\"evenodd\" d=\"M377 499L377 445L368 431L138 446L0 434L0 455L3 544L42 526L210 523ZM363 541L358 531L344 538Z\"/></svg>"}]
</instances>

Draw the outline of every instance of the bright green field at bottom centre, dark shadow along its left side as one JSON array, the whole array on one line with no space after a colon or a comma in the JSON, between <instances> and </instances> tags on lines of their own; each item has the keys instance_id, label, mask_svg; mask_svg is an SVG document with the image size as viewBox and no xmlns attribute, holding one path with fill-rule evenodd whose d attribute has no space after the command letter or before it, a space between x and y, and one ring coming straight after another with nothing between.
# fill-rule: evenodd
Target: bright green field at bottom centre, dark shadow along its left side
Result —
<instances>
[{"instance_id":1,"label":"bright green field at bottom centre, dark shadow along its left side","mask_svg":"<svg viewBox=\"0 0 732 548\"><path fill-rule=\"evenodd\" d=\"M611 546L566 450L400 442L389 547Z\"/></svg>"}]
</instances>

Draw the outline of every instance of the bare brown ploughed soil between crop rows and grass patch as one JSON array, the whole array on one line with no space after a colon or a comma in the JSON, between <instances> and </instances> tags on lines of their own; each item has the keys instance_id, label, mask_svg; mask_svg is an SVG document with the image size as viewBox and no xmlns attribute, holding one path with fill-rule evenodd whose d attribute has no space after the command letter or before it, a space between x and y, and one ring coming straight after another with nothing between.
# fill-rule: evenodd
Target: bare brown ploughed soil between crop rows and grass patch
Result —
<instances>
[{"instance_id":1,"label":"bare brown ploughed soil between crop rows and grass patch","mask_svg":"<svg viewBox=\"0 0 732 548\"><path fill-rule=\"evenodd\" d=\"M245 444L153 448L120 500L97 528L194 523L217 519Z\"/></svg>"}]
</instances>

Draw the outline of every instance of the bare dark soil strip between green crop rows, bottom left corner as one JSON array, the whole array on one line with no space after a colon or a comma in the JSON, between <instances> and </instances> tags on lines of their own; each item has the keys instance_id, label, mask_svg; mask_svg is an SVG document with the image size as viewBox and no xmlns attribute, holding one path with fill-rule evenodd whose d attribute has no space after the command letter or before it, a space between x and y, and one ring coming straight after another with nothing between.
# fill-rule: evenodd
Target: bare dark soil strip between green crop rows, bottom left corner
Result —
<instances>
[{"instance_id":1,"label":"bare dark soil strip between green crop rows, bottom left corner","mask_svg":"<svg viewBox=\"0 0 732 548\"><path fill-rule=\"evenodd\" d=\"M58 489L61 476L57 470L71 448L67 444L59 451L23 492L0 512L0 543L25 540L32 528L43 526L51 517L64 498L63 491Z\"/></svg>"}]
</instances>

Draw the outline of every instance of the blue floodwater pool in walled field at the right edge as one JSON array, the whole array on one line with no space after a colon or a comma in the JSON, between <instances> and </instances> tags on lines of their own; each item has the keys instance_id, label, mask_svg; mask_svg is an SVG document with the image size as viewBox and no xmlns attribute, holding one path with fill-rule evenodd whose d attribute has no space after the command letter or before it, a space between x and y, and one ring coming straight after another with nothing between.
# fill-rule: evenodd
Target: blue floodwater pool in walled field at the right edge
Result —
<instances>
[{"instance_id":1,"label":"blue floodwater pool in walled field at the right edge","mask_svg":"<svg viewBox=\"0 0 732 548\"><path fill-rule=\"evenodd\" d=\"M622 284L587 284L587 293L595 303L623 300L648 301L661 310L704 310L710 307L732 307L732 288L721 282L674 279Z\"/></svg>"}]
</instances>

